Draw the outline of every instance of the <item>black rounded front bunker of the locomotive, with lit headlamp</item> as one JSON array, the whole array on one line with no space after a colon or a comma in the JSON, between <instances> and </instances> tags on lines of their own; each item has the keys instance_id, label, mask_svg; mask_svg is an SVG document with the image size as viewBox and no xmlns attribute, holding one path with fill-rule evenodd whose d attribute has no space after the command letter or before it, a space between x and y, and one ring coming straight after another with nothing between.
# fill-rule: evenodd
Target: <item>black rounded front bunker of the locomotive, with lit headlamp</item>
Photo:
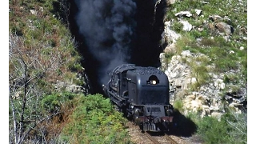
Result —
<instances>
[{"instance_id":1,"label":"black rounded front bunker of the locomotive, with lit headlamp","mask_svg":"<svg viewBox=\"0 0 256 144\"><path fill-rule=\"evenodd\" d=\"M128 91L130 98L138 105L169 104L169 81L161 70L146 67L129 70Z\"/></svg>"}]
</instances>

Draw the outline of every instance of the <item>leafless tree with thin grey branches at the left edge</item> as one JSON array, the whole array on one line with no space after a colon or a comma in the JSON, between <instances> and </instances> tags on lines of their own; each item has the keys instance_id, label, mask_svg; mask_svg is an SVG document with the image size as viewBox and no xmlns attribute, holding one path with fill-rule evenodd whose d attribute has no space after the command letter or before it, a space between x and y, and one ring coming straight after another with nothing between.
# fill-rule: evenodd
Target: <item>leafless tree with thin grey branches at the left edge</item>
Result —
<instances>
[{"instance_id":1,"label":"leafless tree with thin grey branches at the left edge","mask_svg":"<svg viewBox=\"0 0 256 144\"><path fill-rule=\"evenodd\" d=\"M30 57L40 53L38 49L27 50L25 39L15 34L9 38L9 142L42 143L46 141L46 130L39 124L60 113L58 107L49 113L40 104L47 93L44 78L51 65L42 65L38 57Z\"/></svg>"}]
</instances>

